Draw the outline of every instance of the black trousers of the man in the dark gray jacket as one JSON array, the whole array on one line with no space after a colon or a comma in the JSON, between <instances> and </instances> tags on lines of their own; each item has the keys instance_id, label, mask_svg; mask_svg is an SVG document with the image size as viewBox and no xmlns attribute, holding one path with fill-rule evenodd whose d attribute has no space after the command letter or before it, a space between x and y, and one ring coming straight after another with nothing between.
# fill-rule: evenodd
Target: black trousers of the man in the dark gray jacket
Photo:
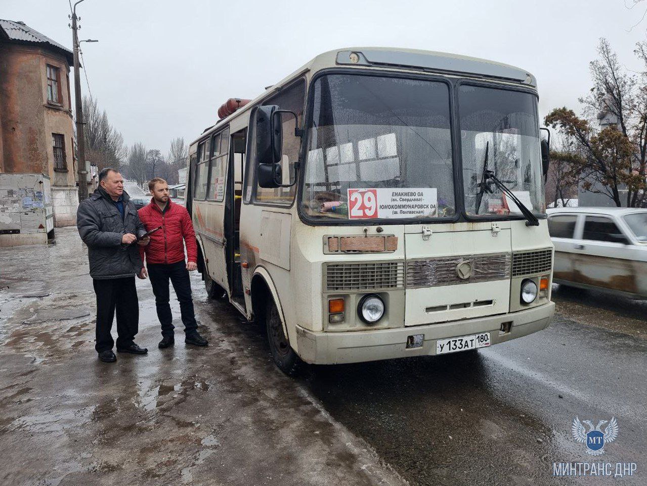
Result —
<instances>
[{"instance_id":1,"label":"black trousers of the man in the dark gray jacket","mask_svg":"<svg viewBox=\"0 0 647 486\"><path fill-rule=\"evenodd\" d=\"M113 349L115 309L117 313L117 348L133 344L139 324L139 302L135 277L93 279L96 293L96 344L97 353Z\"/></svg>"}]
</instances>

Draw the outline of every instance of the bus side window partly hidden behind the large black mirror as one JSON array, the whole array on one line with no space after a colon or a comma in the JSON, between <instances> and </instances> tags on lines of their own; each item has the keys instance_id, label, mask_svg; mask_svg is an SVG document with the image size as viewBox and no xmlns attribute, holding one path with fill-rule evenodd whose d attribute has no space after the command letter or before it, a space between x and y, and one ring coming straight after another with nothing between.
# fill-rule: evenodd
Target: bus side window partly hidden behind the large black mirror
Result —
<instances>
[{"instance_id":1,"label":"bus side window partly hidden behind the large black mirror","mask_svg":"<svg viewBox=\"0 0 647 486\"><path fill-rule=\"evenodd\" d=\"M278 105L280 109L294 111L298 117L298 126L301 126L304 98L305 82L300 80L291 87L283 89L277 96L273 96L263 102L263 105ZM283 125L283 158L281 159L281 169L283 173L283 184L289 184L292 182L289 180L289 177L291 174L294 174L294 164L299 160L301 137L294 136L294 116L289 113L281 113L281 122ZM255 147L256 144L252 143L252 148ZM254 160L254 158L250 160ZM257 184L255 199L259 203L291 204L295 192L296 185L292 187L264 189Z\"/></svg>"}]
</instances>

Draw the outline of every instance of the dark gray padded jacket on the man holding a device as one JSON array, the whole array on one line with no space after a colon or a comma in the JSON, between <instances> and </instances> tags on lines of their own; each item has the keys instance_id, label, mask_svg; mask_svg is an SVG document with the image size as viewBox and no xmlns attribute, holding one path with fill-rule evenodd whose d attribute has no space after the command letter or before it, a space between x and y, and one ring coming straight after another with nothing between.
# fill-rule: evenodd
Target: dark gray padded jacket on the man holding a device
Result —
<instances>
[{"instance_id":1,"label":"dark gray padded jacket on the man holding a device","mask_svg":"<svg viewBox=\"0 0 647 486\"><path fill-rule=\"evenodd\" d=\"M79 204L76 211L76 228L83 243L87 245L90 261L90 276L99 280L124 278L142 270L142 258L137 243L122 244L126 233L141 236L146 233L137 215L135 204L124 191L124 219L103 188Z\"/></svg>"}]
</instances>

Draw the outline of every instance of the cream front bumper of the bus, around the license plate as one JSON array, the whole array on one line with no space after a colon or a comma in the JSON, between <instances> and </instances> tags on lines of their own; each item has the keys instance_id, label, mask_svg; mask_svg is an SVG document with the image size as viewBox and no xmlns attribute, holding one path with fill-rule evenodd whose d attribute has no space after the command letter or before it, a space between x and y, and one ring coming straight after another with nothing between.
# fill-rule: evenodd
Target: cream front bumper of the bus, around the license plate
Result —
<instances>
[{"instance_id":1,"label":"cream front bumper of the bus, around the license plate","mask_svg":"<svg viewBox=\"0 0 647 486\"><path fill-rule=\"evenodd\" d=\"M341 364L381 359L436 354L436 340L477 333L490 333L490 343L541 331L548 327L555 311L554 302L515 313L479 317L426 326L376 329L353 332L313 332L296 326L298 354L311 364ZM509 333L501 333L501 324L511 322ZM424 335L422 346L406 348L411 335Z\"/></svg>"}]
</instances>

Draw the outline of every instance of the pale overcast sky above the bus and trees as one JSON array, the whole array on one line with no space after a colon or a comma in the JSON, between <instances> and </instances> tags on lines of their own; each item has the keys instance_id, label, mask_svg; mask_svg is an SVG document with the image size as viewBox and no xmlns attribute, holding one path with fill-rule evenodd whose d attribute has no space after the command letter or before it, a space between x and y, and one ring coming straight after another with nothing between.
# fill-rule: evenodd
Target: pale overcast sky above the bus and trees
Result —
<instances>
[{"instance_id":1,"label":"pale overcast sky above the bus and trees","mask_svg":"<svg viewBox=\"0 0 647 486\"><path fill-rule=\"evenodd\" d=\"M168 151L196 138L230 97L254 98L316 54L340 47L439 50L516 65L538 80L540 115L578 109L605 37L629 69L646 40L647 2L632 0L85 0L78 6L89 87L126 144ZM277 5L281 5L277 7ZM1 0L70 47L67 0ZM83 78L83 74L82 74ZM88 87L82 81L83 93Z\"/></svg>"}]
</instances>

